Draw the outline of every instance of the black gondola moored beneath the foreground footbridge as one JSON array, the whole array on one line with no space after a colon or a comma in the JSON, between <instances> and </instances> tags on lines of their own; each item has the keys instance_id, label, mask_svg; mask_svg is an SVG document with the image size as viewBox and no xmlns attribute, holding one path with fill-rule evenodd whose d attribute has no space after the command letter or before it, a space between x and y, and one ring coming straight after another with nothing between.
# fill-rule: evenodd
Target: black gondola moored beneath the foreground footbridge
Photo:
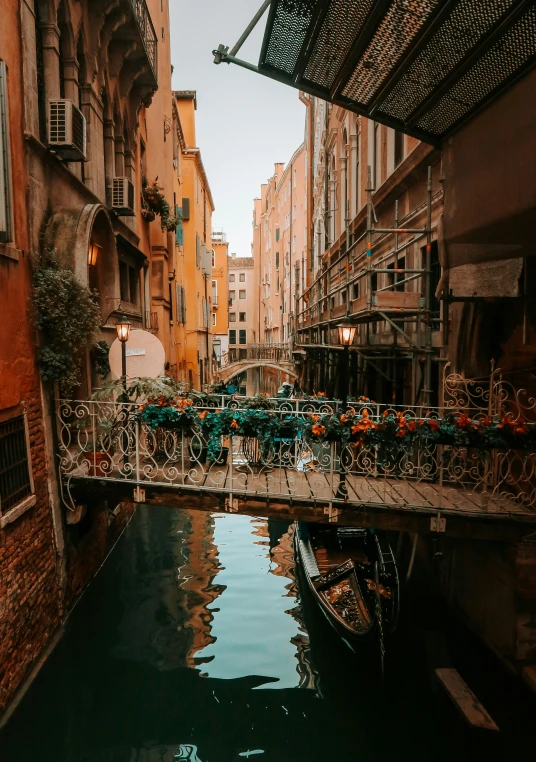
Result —
<instances>
[{"instance_id":1,"label":"black gondola moored beneath the foreground footbridge","mask_svg":"<svg viewBox=\"0 0 536 762\"><path fill-rule=\"evenodd\" d=\"M391 546L374 529L295 524L297 560L332 627L352 648L380 641L398 623L400 591Z\"/></svg>"}]
</instances>

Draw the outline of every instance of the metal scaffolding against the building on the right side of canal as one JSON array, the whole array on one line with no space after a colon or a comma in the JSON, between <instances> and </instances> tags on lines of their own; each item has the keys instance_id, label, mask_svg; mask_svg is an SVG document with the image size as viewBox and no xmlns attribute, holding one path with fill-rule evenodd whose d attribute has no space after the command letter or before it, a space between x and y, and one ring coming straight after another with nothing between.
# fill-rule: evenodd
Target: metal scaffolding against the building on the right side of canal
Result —
<instances>
[{"instance_id":1,"label":"metal scaffolding against the building on the right side of canal","mask_svg":"<svg viewBox=\"0 0 536 762\"><path fill-rule=\"evenodd\" d=\"M437 355L432 333L441 329L442 320L441 308L432 309L436 264L432 262L432 207L440 194L432 193L432 168L428 167L425 203L400 220L396 201L392 227L378 224L372 194L369 167L366 228L352 235L347 218L344 248L324 253L321 271L304 294L297 345L309 354L337 351L336 325L350 320L358 327L351 348L357 354L355 391L370 396L366 379L372 368L390 382L394 397L402 373L409 394L400 402L431 405L437 391L432 383ZM423 216L424 224L419 226ZM415 254L417 261L410 266L409 252L419 242L422 256ZM406 290L407 284L412 284L411 290Z\"/></svg>"}]
</instances>

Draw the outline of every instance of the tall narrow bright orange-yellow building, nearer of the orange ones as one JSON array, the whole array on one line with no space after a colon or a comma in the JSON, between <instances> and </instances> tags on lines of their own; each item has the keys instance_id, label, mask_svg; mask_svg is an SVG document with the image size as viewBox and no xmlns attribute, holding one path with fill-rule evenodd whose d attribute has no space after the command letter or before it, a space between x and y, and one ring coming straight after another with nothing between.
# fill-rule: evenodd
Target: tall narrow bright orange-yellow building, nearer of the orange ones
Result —
<instances>
[{"instance_id":1,"label":"tall narrow bright orange-yellow building, nearer of the orange ones","mask_svg":"<svg viewBox=\"0 0 536 762\"><path fill-rule=\"evenodd\" d=\"M180 201L182 215L182 278L185 300L183 358L186 381L202 389L212 381L212 317L210 308L212 279L212 213L214 202L196 146L196 93L174 93L184 146L180 156Z\"/></svg>"}]
</instances>

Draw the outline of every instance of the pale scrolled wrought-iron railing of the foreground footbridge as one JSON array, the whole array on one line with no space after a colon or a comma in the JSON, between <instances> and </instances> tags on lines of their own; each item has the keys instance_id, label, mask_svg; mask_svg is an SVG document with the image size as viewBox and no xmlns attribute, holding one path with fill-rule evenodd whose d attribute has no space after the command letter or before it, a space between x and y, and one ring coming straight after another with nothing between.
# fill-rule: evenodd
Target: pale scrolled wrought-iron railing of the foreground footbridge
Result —
<instances>
[{"instance_id":1,"label":"pale scrolled wrought-iron railing of the foreground footbridge","mask_svg":"<svg viewBox=\"0 0 536 762\"><path fill-rule=\"evenodd\" d=\"M237 415L246 404L245 398L212 400L213 405L220 402ZM92 478L126 482L133 489L159 485L225 493L230 505L233 496L245 495L468 516L534 516L534 452L421 442L386 456L377 445L316 441L303 430L293 433L293 419L334 413L339 403L280 399L276 404L279 435L267 438L259 431L258 436L221 436L214 446L195 427L150 428L137 404L62 400L58 419L64 501L74 507L73 479ZM386 413L417 422L423 416L438 419L444 412L370 402L354 406L358 413L366 410L377 425ZM214 412L214 407L206 409Z\"/></svg>"}]
</instances>

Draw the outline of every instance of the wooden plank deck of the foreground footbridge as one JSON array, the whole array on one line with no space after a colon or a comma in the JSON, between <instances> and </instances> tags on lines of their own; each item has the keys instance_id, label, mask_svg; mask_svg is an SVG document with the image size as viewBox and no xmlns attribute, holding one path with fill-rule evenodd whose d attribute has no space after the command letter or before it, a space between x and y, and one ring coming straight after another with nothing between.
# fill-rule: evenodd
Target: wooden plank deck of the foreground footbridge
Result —
<instances>
[{"instance_id":1,"label":"wooden plank deck of the foreground footbridge","mask_svg":"<svg viewBox=\"0 0 536 762\"><path fill-rule=\"evenodd\" d=\"M337 497L339 474L287 468L252 469L236 464L196 466L184 474L164 469L139 481L120 470L105 477L83 469L69 474L73 504L91 498L200 508L267 518L338 521L410 532L446 532L450 536L517 542L536 531L536 511L502 495L457 488L452 484L411 482L348 474L346 500ZM140 491L138 491L138 488ZM231 502L232 501L232 502ZM437 519L445 519L439 523Z\"/></svg>"}]
</instances>

